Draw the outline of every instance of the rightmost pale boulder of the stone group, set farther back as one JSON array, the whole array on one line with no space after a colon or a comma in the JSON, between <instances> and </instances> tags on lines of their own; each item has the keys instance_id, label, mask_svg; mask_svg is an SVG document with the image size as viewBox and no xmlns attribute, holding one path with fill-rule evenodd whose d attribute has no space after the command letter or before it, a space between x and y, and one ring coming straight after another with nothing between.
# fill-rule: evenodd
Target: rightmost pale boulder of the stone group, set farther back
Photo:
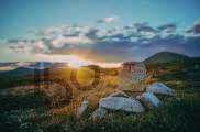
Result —
<instances>
[{"instance_id":1,"label":"rightmost pale boulder of the stone group, set farther back","mask_svg":"<svg viewBox=\"0 0 200 132\"><path fill-rule=\"evenodd\" d=\"M163 82L153 82L152 85L146 87L146 91L159 95L169 95L169 96L175 95L175 89L167 87Z\"/></svg>"}]
</instances>

